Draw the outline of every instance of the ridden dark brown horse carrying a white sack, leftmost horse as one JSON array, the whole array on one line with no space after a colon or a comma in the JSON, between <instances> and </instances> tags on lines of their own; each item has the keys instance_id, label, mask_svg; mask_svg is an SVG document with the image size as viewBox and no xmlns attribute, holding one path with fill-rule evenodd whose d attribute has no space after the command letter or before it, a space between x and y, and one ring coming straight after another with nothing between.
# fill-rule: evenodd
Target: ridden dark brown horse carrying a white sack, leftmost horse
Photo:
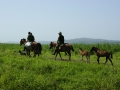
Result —
<instances>
[{"instance_id":1,"label":"ridden dark brown horse carrying a white sack, leftmost horse","mask_svg":"<svg viewBox=\"0 0 120 90\"><path fill-rule=\"evenodd\" d=\"M42 51L42 46L40 43L37 42L27 42L26 39L21 39L20 40L20 45L24 44L26 48L26 55L30 56L30 51L34 51L34 56L38 54L38 56L41 54ZM30 44L30 45L27 45Z\"/></svg>"}]
</instances>

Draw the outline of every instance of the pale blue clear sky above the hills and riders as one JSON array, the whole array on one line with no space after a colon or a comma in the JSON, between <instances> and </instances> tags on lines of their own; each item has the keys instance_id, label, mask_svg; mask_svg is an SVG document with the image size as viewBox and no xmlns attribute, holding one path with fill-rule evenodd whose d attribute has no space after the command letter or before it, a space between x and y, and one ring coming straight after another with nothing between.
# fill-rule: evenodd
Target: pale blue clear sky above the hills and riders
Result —
<instances>
[{"instance_id":1,"label":"pale blue clear sky above the hills and riders","mask_svg":"<svg viewBox=\"0 0 120 90\"><path fill-rule=\"evenodd\" d=\"M120 0L0 0L0 42L120 40Z\"/></svg>"}]
</instances>

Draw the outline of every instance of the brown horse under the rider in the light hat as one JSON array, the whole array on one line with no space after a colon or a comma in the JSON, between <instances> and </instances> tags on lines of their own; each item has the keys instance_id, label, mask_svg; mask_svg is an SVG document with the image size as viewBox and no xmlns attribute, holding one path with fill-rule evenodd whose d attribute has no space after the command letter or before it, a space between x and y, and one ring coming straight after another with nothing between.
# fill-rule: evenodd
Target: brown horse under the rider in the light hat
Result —
<instances>
[{"instance_id":1,"label":"brown horse under the rider in the light hat","mask_svg":"<svg viewBox=\"0 0 120 90\"><path fill-rule=\"evenodd\" d=\"M51 49L52 47L56 47L56 45L57 45L57 44L55 44L54 42L51 42L51 43L50 43L50 49ZM61 44L61 45L59 46L59 48L56 48L55 60L56 60L56 57L57 57L58 54L60 55L60 58L61 58L61 60L62 60L62 57L61 57L60 52L67 52L68 55L69 55L69 60L71 60L71 52L70 52L71 50L74 51L73 46L72 46L71 44L68 44L68 43Z\"/></svg>"}]
</instances>

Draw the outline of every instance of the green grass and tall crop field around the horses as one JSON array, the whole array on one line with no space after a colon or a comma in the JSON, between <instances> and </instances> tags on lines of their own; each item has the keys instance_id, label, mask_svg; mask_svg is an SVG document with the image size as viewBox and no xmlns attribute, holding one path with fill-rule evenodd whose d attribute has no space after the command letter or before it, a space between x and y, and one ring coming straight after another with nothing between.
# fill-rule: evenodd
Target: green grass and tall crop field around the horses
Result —
<instances>
[{"instance_id":1,"label":"green grass and tall crop field around the horses","mask_svg":"<svg viewBox=\"0 0 120 90\"><path fill-rule=\"evenodd\" d=\"M81 61L79 47L90 51L92 46L113 52L113 64L100 58L97 64L95 53L91 62ZM0 44L0 90L119 90L120 44L73 44L72 60L64 53L54 60L49 45L42 45L41 56L28 57L19 54L23 46ZM33 55L33 52L31 53Z\"/></svg>"}]
</instances>

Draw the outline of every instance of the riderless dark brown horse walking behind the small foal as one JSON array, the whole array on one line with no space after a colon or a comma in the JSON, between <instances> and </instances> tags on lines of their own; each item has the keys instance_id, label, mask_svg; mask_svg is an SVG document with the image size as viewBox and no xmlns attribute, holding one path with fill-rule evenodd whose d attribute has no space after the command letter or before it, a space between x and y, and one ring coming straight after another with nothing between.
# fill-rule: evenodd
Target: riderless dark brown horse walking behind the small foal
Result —
<instances>
[{"instance_id":1,"label":"riderless dark brown horse walking behind the small foal","mask_svg":"<svg viewBox=\"0 0 120 90\"><path fill-rule=\"evenodd\" d=\"M108 59L109 59L109 61L111 62L111 64L113 65L113 63L112 63L112 53L111 52L108 52L108 51L103 51L103 50L100 50L99 48L97 48L97 47L92 47L91 48L91 50L90 50L90 53L92 52L92 51L95 51L96 52L96 55L97 55L97 62L98 62L98 64L99 64L99 58L100 57L106 57L106 62L105 62L105 64L107 63L107 61L108 61ZM111 57L110 57L111 56Z\"/></svg>"}]
</instances>

